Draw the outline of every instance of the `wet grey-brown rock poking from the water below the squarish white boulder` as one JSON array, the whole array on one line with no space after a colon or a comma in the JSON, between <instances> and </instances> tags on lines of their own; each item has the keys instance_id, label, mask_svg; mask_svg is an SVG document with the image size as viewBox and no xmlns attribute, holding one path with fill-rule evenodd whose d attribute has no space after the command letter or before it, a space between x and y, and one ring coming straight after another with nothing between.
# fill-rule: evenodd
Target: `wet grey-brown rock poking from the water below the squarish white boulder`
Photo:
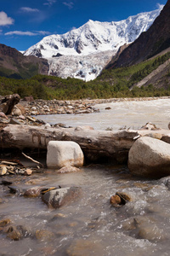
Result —
<instances>
[{"instance_id":1,"label":"wet grey-brown rock poking from the water below the squarish white boulder","mask_svg":"<svg viewBox=\"0 0 170 256\"><path fill-rule=\"evenodd\" d=\"M81 195L81 189L78 187L54 189L42 195L42 201L48 207L59 208L71 203Z\"/></svg>"}]
</instances>

